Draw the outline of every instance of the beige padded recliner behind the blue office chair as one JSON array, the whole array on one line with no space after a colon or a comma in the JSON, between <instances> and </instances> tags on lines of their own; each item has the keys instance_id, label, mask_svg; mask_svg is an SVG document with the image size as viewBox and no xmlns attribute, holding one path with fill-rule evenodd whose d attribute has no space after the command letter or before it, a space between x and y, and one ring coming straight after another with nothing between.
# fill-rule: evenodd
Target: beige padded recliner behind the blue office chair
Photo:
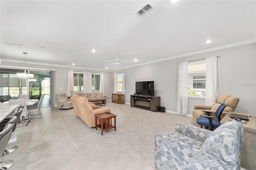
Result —
<instances>
[{"instance_id":1,"label":"beige padded recliner behind the blue office chair","mask_svg":"<svg viewBox=\"0 0 256 170\"><path fill-rule=\"evenodd\" d=\"M220 117L220 119L222 119L229 111L235 111L236 106L238 105L239 100L240 99L238 99L238 97L232 96L232 95L218 95L215 98L214 104L212 106L196 105L196 106L194 106L194 110L192 112L193 123L197 127L201 127L202 128L201 125L198 125L196 123L196 119L198 117L201 117L203 114L205 114L202 110L212 112L210 115L215 117L216 110L218 109L220 104L224 103L225 105L227 105L227 107L225 107L224 111L222 112L222 115ZM217 121L216 118L214 118L214 119Z\"/></svg>"}]
</instances>

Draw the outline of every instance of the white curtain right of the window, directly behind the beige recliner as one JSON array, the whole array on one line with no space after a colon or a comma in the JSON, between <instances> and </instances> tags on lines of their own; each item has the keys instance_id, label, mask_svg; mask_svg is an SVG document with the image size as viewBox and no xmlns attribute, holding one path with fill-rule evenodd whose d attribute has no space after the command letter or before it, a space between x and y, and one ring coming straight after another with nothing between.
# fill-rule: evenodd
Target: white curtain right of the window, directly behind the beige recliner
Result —
<instances>
[{"instance_id":1,"label":"white curtain right of the window, directly behind the beige recliner","mask_svg":"<svg viewBox=\"0 0 256 170\"><path fill-rule=\"evenodd\" d=\"M218 57L206 58L206 89L205 105L211 106L215 98L219 95L218 88Z\"/></svg>"}]
</instances>

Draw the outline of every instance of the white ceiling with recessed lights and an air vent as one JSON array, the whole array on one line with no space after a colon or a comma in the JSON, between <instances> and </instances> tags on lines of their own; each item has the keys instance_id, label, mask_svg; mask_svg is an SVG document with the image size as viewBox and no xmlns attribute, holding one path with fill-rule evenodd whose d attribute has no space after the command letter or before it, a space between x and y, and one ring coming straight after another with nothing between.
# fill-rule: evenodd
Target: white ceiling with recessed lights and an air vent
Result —
<instances>
[{"instance_id":1,"label":"white ceiling with recessed lights and an air vent","mask_svg":"<svg viewBox=\"0 0 256 170\"><path fill-rule=\"evenodd\" d=\"M155 8L136 16L148 2ZM0 3L2 61L24 62L27 52L27 63L115 70L256 40L255 0ZM111 64L116 55L126 65Z\"/></svg>"}]
</instances>

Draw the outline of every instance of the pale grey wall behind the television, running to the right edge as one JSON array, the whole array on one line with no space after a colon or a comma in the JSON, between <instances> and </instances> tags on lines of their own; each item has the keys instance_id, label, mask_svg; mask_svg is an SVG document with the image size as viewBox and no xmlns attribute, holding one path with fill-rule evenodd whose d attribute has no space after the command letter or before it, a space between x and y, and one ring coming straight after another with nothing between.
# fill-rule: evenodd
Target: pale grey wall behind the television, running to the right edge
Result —
<instances>
[{"instance_id":1,"label":"pale grey wall behind the television, running to the right edge","mask_svg":"<svg viewBox=\"0 0 256 170\"><path fill-rule=\"evenodd\" d=\"M229 94L240 99L237 112L256 114L256 43L220 49L178 59L112 71L126 73L126 102L135 93L136 81L154 81L155 96L160 96L161 106L176 111L177 70L179 61L190 61L220 55L218 58L219 94ZM128 97L128 99L127 99ZM204 99L189 99L188 113L194 105L204 105Z\"/></svg>"}]
</instances>

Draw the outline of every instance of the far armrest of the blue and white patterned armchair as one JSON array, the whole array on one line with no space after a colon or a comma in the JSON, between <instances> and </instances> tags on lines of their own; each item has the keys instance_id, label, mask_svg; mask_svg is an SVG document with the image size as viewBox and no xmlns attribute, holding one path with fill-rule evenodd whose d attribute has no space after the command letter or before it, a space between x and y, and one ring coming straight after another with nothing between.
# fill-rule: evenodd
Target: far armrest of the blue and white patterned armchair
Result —
<instances>
[{"instance_id":1,"label":"far armrest of the blue and white patterned armchair","mask_svg":"<svg viewBox=\"0 0 256 170\"><path fill-rule=\"evenodd\" d=\"M187 125L184 123L177 123L175 127L175 132L178 132L180 134L183 134L184 136L188 136L190 138L196 139L202 143L212 133L211 130L195 127L192 125Z\"/></svg>"}]
</instances>

